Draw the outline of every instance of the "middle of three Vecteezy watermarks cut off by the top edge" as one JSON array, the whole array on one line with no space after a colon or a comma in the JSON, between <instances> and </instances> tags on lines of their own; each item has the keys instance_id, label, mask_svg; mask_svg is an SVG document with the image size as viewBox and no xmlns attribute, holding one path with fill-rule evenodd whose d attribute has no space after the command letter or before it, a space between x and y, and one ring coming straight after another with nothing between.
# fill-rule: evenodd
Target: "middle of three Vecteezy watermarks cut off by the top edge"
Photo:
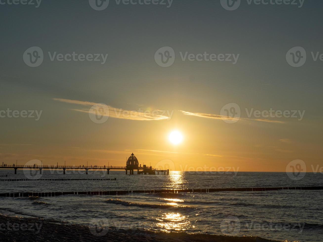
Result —
<instances>
[{"instance_id":1,"label":"middle of three Vecteezy watermarks cut off by the top edge","mask_svg":"<svg viewBox=\"0 0 323 242\"><path fill-rule=\"evenodd\" d=\"M89 0L89 5L97 11L102 11L109 6L109 0ZM173 0L115 0L116 5L167 5L172 6Z\"/></svg>"}]
</instances>

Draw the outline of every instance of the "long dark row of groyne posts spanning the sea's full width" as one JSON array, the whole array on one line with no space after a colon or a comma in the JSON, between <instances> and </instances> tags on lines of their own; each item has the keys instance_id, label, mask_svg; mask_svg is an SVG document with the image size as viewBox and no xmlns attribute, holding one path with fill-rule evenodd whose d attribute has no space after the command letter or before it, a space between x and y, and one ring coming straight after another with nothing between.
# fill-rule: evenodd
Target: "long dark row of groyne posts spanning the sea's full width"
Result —
<instances>
[{"instance_id":1,"label":"long dark row of groyne posts spanning the sea's full width","mask_svg":"<svg viewBox=\"0 0 323 242\"><path fill-rule=\"evenodd\" d=\"M323 190L323 187L251 187L251 188L210 188L210 189L163 189L131 191L95 191L95 192L23 192L0 193L0 197L56 197L62 195L126 195L129 193L208 193L224 191L275 191L275 190Z\"/></svg>"}]
</instances>

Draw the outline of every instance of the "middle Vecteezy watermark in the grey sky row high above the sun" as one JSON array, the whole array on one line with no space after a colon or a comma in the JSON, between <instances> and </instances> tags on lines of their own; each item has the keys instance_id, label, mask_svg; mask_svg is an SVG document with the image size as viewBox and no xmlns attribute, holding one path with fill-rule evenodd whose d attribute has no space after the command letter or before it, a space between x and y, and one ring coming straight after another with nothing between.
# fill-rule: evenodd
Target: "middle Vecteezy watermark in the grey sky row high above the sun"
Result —
<instances>
[{"instance_id":1,"label":"middle Vecteezy watermark in the grey sky row high above the sun","mask_svg":"<svg viewBox=\"0 0 323 242\"><path fill-rule=\"evenodd\" d=\"M181 57L182 61L226 61L226 62L231 62L233 65L235 65L239 59L240 54L213 54L213 53L208 53L204 51L204 53L200 54L193 54L189 53L188 51L186 52L179 52L179 55ZM158 66L161 67L169 67L174 64L175 61L175 51L172 47L170 46L164 46L158 49L155 52L155 62L157 63Z\"/></svg>"}]
</instances>

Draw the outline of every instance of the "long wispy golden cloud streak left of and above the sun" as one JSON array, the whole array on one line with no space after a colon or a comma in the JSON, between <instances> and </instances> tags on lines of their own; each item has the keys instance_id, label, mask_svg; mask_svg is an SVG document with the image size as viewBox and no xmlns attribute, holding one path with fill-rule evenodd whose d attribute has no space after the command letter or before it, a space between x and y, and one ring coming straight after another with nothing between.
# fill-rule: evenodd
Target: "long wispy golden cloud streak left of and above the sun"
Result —
<instances>
[{"instance_id":1,"label":"long wispy golden cloud streak left of and above the sun","mask_svg":"<svg viewBox=\"0 0 323 242\"><path fill-rule=\"evenodd\" d=\"M79 101L79 100L70 100L70 99L63 99L63 98L53 98L55 101L63 102L63 103L69 103L69 104L76 104L80 106L98 106L100 107L101 104L93 103L93 102L87 102L87 101ZM119 119L128 119L128 120L137 120L137 121L151 121L151 120L169 120L171 118L172 113L169 111L161 111L161 110L154 110L152 112L138 112L138 111L131 111L131 110L125 110L122 108L115 108L108 105L101 105L105 110L105 113L100 114L101 116L109 116L112 118L119 118ZM90 109L90 108L74 108L71 109L73 111L77 112L83 112L88 114L96 115L96 110ZM167 113L169 116L165 116L164 114Z\"/></svg>"}]
</instances>

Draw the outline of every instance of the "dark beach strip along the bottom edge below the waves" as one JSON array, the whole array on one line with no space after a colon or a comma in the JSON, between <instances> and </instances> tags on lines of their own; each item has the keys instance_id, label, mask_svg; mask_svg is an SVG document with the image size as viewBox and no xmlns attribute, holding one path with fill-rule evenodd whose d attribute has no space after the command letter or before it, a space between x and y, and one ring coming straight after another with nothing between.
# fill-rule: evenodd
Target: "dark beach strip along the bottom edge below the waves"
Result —
<instances>
[{"instance_id":1,"label":"dark beach strip along the bottom edge below the waves","mask_svg":"<svg viewBox=\"0 0 323 242\"><path fill-rule=\"evenodd\" d=\"M199 242L274 242L260 237L234 237L184 232L103 229L49 222L41 218L13 217L0 214L1 241L199 241Z\"/></svg>"}]
</instances>

